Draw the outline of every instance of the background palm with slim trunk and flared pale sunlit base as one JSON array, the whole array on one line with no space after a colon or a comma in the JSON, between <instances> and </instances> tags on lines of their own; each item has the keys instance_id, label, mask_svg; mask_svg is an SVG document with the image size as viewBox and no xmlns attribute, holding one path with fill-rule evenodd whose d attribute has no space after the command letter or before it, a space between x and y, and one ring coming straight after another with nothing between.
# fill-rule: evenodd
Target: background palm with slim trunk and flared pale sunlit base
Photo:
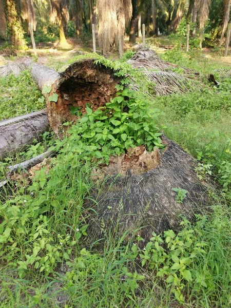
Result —
<instances>
[{"instance_id":1,"label":"background palm with slim trunk and flared pale sunlit base","mask_svg":"<svg viewBox=\"0 0 231 308\"><path fill-rule=\"evenodd\" d=\"M67 26L69 20L69 13L66 0L51 0L50 20L53 23L59 24L60 30L60 44L67 45L64 34L64 27Z\"/></svg>"}]
</instances>

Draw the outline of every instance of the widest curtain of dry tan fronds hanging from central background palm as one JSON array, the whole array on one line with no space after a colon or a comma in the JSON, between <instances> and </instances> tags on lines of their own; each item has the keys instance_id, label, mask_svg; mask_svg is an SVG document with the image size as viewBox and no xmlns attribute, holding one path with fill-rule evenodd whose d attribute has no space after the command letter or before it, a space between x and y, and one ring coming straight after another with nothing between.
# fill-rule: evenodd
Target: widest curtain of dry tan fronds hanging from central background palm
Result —
<instances>
[{"instance_id":1,"label":"widest curtain of dry tan fronds hanging from central background palm","mask_svg":"<svg viewBox=\"0 0 231 308\"><path fill-rule=\"evenodd\" d=\"M132 14L131 0L98 0L99 43L103 54L115 44L123 53L125 25Z\"/></svg>"}]
</instances>

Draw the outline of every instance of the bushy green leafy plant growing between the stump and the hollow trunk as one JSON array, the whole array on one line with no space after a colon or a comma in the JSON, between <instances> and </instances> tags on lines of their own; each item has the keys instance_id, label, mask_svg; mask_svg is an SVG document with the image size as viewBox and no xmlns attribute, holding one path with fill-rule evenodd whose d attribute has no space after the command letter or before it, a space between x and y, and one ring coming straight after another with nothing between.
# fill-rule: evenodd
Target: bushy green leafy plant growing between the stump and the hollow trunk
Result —
<instances>
[{"instance_id":1,"label":"bushy green leafy plant growing between the stump and the hollow trunk","mask_svg":"<svg viewBox=\"0 0 231 308\"><path fill-rule=\"evenodd\" d=\"M149 108L135 91L121 86L118 89L118 96L105 107L92 111L86 106L86 113L68 131L68 151L81 153L84 160L95 157L108 163L111 155L120 155L129 147L145 145L149 151L164 147L162 133L153 121L159 110ZM62 149L62 142L57 143L57 149L67 151L66 147Z\"/></svg>"}]
</instances>

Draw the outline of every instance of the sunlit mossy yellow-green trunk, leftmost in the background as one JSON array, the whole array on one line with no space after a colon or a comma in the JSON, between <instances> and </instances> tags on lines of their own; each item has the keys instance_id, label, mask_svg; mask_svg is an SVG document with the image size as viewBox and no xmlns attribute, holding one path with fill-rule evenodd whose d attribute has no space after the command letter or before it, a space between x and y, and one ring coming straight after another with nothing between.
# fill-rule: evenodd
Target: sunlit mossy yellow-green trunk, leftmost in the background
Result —
<instances>
[{"instance_id":1,"label":"sunlit mossy yellow-green trunk, leftmost in the background","mask_svg":"<svg viewBox=\"0 0 231 308\"><path fill-rule=\"evenodd\" d=\"M11 43L15 47L25 47L26 41L23 35L23 27L17 14L15 0L6 0L7 21L10 32Z\"/></svg>"}]
</instances>

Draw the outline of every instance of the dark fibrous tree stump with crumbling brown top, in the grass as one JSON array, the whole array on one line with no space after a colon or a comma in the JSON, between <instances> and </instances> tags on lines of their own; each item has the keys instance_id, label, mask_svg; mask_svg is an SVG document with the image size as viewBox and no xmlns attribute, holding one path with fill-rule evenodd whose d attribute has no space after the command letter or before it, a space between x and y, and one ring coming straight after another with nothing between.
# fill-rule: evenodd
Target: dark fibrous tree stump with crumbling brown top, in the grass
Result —
<instances>
[{"instance_id":1,"label":"dark fibrous tree stump with crumbling brown top, in the grass","mask_svg":"<svg viewBox=\"0 0 231 308\"><path fill-rule=\"evenodd\" d=\"M147 241L153 231L179 230L179 214L192 220L205 206L206 186L198 181L195 160L176 143L166 138L163 141L167 143L165 151L150 154L155 166L147 168L150 157L142 157L145 151L137 148L130 156L123 155L122 164L121 157L117 162L112 159L108 167L95 172L95 176L107 177L102 186L92 189L85 204L91 208L86 217L89 224L86 242L101 241L109 229L119 236L124 232L134 236L134 230L139 228L137 234ZM140 168L131 169L136 163ZM182 203L177 202L172 188L188 191Z\"/></svg>"}]
</instances>

